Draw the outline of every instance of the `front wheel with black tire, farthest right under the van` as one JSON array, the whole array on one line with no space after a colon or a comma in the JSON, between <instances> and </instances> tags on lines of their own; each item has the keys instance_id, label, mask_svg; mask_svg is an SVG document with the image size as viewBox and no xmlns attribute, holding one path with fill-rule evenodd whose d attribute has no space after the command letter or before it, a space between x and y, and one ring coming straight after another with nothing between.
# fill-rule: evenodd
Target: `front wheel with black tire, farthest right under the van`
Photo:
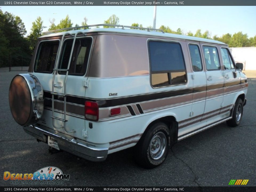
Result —
<instances>
[{"instance_id":1,"label":"front wheel with black tire, farthest right under the van","mask_svg":"<svg viewBox=\"0 0 256 192\"><path fill-rule=\"evenodd\" d=\"M238 126L241 122L242 116L243 116L243 101L242 99L238 98L237 101L235 102L232 119L229 119L227 121L227 125L231 127Z\"/></svg>"}]
</instances>

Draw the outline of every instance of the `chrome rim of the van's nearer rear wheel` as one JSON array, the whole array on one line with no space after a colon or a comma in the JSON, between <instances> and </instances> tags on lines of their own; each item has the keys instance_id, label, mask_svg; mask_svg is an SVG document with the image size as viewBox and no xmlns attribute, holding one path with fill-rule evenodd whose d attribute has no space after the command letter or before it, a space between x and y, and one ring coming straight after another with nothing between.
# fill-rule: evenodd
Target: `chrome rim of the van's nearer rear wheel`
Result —
<instances>
[{"instance_id":1,"label":"chrome rim of the van's nearer rear wheel","mask_svg":"<svg viewBox=\"0 0 256 192\"><path fill-rule=\"evenodd\" d=\"M163 132L158 132L154 135L149 144L149 153L152 159L158 160L163 156L167 146L166 141L167 139Z\"/></svg>"}]
</instances>

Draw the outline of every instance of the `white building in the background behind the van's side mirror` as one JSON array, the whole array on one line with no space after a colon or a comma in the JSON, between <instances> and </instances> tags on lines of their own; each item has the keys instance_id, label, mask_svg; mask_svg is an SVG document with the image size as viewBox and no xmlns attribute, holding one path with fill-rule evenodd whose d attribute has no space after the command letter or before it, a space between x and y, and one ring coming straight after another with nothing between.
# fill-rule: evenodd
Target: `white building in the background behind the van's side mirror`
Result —
<instances>
[{"instance_id":1,"label":"white building in the background behind the van's side mirror","mask_svg":"<svg viewBox=\"0 0 256 192\"><path fill-rule=\"evenodd\" d=\"M256 47L229 48L236 63L243 63L243 70L256 70Z\"/></svg>"}]
</instances>

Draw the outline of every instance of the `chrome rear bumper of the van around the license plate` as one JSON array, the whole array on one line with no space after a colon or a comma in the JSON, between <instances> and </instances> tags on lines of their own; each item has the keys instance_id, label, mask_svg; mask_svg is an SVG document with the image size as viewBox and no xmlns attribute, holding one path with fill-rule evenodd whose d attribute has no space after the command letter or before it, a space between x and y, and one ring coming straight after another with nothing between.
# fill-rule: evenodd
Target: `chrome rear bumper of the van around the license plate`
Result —
<instances>
[{"instance_id":1,"label":"chrome rear bumper of the van around the license plate","mask_svg":"<svg viewBox=\"0 0 256 192\"><path fill-rule=\"evenodd\" d=\"M85 143L79 143L76 139L66 138L54 133L54 130L45 130L35 125L23 127L24 131L33 137L47 143L47 136L57 140L59 149L67 151L89 161L104 161L107 158L107 147L96 147Z\"/></svg>"}]
</instances>

